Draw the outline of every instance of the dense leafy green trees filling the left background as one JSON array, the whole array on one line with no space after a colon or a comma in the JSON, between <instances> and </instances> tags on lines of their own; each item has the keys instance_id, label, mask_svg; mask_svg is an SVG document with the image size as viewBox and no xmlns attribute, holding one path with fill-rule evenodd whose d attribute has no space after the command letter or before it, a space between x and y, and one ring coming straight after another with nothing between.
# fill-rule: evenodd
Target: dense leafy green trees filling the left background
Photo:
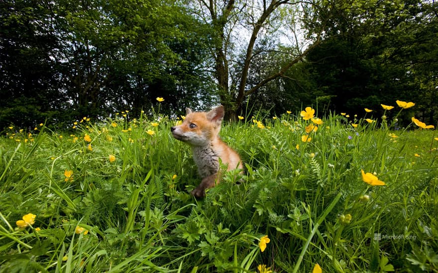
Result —
<instances>
[{"instance_id":1,"label":"dense leafy green trees filling the left background","mask_svg":"<svg viewBox=\"0 0 438 273\"><path fill-rule=\"evenodd\" d=\"M174 1L14 0L0 14L1 128L139 114L158 96L169 115L213 104L207 36Z\"/></svg>"}]
</instances>

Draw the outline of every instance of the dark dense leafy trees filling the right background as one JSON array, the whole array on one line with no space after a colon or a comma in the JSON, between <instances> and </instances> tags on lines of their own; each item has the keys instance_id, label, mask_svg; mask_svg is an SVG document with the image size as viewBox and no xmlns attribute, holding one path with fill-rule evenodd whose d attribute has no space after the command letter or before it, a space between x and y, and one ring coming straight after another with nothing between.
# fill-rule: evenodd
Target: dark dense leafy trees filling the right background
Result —
<instances>
[{"instance_id":1,"label":"dark dense leafy trees filling the right background","mask_svg":"<svg viewBox=\"0 0 438 273\"><path fill-rule=\"evenodd\" d=\"M364 107L383 112L381 103L415 101L433 123L436 4L347 0L336 2L334 10L324 41L308 55L317 85L335 98L330 109L363 114Z\"/></svg>"}]
</instances>

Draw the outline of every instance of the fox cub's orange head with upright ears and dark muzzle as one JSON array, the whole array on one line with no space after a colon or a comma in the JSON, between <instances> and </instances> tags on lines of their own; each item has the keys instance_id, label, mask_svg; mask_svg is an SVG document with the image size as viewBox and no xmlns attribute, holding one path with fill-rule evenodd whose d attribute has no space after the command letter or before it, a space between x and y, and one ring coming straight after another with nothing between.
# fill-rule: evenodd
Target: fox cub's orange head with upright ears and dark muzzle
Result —
<instances>
[{"instance_id":1,"label":"fox cub's orange head with upright ears and dark muzzle","mask_svg":"<svg viewBox=\"0 0 438 273\"><path fill-rule=\"evenodd\" d=\"M193 112L186 108L186 118L181 125L170 128L173 137L193 146L204 146L219 134L223 120L223 106L210 112Z\"/></svg>"}]
</instances>

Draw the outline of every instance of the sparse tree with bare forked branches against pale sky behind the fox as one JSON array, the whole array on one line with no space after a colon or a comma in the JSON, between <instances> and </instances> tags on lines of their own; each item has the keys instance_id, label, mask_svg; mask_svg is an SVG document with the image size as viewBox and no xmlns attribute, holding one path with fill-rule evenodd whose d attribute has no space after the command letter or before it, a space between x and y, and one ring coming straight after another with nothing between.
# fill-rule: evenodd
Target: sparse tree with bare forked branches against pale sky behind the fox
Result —
<instances>
[{"instance_id":1,"label":"sparse tree with bare forked branches against pale sky behind the fox","mask_svg":"<svg viewBox=\"0 0 438 273\"><path fill-rule=\"evenodd\" d=\"M310 12L314 9L310 7L317 4L318 1L292 0L198 0L192 4L192 12L212 29L212 72L218 85L220 102L225 105L225 118L234 118L242 110L245 97L283 76L320 43L324 23L319 27L314 25L309 31L307 41L310 44L304 50L300 46L297 31L301 21L312 17ZM319 15L318 12L312 14L312 19ZM319 20L322 22L324 18ZM288 24L291 28L286 33L283 26ZM270 43L255 51L261 36L277 43ZM248 75L256 66L256 56L263 52L278 51L280 36L294 42L289 49L283 48L283 57L287 62L269 74L248 82Z\"/></svg>"}]
</instances>

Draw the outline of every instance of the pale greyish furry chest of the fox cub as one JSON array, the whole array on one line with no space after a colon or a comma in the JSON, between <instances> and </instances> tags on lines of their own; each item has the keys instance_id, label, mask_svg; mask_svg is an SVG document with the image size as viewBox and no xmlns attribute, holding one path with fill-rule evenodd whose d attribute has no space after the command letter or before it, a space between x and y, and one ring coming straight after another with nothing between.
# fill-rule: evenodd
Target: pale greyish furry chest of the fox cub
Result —
<instances>
[{"instance_id":1,"label":"pale greyish furry chest of the fox cub","mask_svg":"<svg viewBox=\"0 0 438 273\"><path fill-rule=\"evenodd\" d=\"M212 145L192 147L193 159L201 177L215 174L219 170L219 155Z\"/></svg>"}]
</instances>

